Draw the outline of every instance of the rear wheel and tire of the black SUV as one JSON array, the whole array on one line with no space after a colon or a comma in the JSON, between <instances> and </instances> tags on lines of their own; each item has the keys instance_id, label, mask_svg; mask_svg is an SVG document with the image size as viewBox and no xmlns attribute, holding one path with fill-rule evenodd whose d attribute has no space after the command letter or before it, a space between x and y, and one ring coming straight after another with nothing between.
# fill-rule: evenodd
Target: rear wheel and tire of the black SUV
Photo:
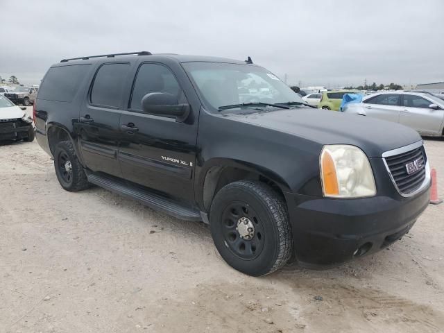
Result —
<instances>
[{"instance_id":1,"label":"rear wheel and tire of the black SUV","mask_svg":"<svg viewBox=\"0 0 444 333\"><path fill-rule=\"evenodd\" d=\"M62 141L57 144L54 167L58 182L67 191L76 192L89 187L86 173L78 161L72 142Z\"/></svg>"}]
</instances>

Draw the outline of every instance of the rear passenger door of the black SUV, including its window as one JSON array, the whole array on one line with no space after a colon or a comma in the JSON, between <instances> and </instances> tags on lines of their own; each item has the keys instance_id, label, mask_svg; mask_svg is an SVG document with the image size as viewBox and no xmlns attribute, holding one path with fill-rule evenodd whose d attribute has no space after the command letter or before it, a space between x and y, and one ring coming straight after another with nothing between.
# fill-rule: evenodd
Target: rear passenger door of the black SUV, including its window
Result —
<instances>
[{"instance_id":1,"label":"rear passenger door of the black SUV, including its window","mask_svg":"<svg viewBox=\"0 0 444 333\"><path fill-rule=\"evenodd\" d=\"M96 71L88 99L80 110L80 151L86 166L121 177L117 160L119 148L119 120L123 86L130 64L114 62L101 65Z\"/></svg>"}]
</instances>

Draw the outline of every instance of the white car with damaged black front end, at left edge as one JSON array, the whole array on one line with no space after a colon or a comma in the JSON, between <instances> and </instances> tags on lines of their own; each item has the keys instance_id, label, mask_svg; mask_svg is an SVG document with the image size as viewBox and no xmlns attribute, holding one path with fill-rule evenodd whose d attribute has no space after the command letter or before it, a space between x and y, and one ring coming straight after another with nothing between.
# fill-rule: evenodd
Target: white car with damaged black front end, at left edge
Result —
<instances>
[{"instance_id":1,"label":"white car with damaged black front end, at left edge","mask_svg":"<svg viewBox=\"0 0 444 333\"><path fill-rule=\"evenodd\" d=\"M34 140L33 119L6 96L0 96L0 141Z\"/></svg>"}]
</instances>

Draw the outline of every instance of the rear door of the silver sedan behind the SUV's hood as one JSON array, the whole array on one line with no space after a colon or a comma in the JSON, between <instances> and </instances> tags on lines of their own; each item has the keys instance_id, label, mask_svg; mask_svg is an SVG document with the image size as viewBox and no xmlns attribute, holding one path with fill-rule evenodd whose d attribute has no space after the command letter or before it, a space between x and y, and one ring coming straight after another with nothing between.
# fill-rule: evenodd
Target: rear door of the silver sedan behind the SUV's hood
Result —
<instances>
[{"instance_id":1,"label":"rear door of the silver sedan behind the SUV's hood","mask_svg":"<svg viewBox=\"0 0 444 333\"><path fill-rule=\"evenodd\" d=\"M399 122L400 94L380 94L363 102L368 117Z\"/></svg>"}]
</instances>

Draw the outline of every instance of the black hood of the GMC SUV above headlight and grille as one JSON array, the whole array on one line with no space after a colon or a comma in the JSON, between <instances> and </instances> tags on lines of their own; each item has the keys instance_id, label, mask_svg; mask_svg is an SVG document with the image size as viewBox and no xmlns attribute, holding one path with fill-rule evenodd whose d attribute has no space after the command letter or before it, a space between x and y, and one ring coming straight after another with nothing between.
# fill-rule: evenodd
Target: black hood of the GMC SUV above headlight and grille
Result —
<instances>
[{"instance_id":1,"label":"black hood of the GMC SUV above headlight and grille","mask_svg":"<svg viewBox=\"0 0 444 333\"><path fill-rule=\"evenodd\" d=\"M415 130L398 123L330 110L294 108L254 114L231 114L231 119L303 137L318 144L351 144L368 157L420 141Z\"/></svg>"}]
</instances>

